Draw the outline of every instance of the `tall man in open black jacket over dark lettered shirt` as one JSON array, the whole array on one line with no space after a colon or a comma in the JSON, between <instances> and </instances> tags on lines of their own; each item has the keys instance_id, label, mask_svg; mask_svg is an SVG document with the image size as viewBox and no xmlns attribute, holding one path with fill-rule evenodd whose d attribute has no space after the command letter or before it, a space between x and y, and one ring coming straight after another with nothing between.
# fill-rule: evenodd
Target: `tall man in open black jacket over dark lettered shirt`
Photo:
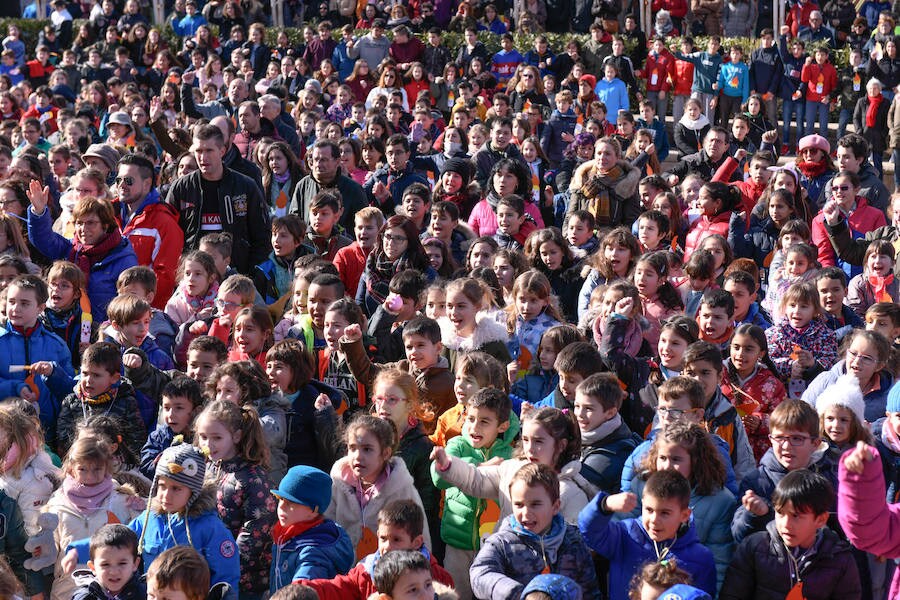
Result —
<instances>
[{"instance_id":1,"label":"tall man in open black jacket over dark lettered shirt","mask_svg":"<svg viewBox=\"0 0 900 600\"><path fill-rule=\"evenodd\" d=\"M199 168L177 179L166 198L180 213L185 250L196 250L207 233L226 231L234 240L231 264L246 275L272 249L269 208L262 189L225 166L225 136L215 125L194 129L191 151Z\"/></svg>"}]
</instances>

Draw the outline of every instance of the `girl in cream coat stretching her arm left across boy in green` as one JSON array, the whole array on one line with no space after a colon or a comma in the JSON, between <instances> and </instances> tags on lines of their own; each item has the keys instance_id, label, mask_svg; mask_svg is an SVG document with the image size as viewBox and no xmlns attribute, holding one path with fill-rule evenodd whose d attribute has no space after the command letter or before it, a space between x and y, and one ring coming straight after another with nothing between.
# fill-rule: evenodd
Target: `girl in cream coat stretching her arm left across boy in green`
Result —
<instances>
[{"instance_id":1,"label":"girl in cream coat stretching her arm left across boy in green","mask_svg":"<svg viewBox=\"0 0 900 600\"><path fill-rule=\"evenodd\" d=\"M567 523L577 523L592 487L581 475L581 432L574 418L557 408L523 406L521 431L516 458L500 464L473 465L448 456L438 446L431 453L435 470L464 494L497 502L499 525L512 514L509 484L516 472L528 463L547 465L559 475L560 514Z\"/></svg>"}]
</instances>

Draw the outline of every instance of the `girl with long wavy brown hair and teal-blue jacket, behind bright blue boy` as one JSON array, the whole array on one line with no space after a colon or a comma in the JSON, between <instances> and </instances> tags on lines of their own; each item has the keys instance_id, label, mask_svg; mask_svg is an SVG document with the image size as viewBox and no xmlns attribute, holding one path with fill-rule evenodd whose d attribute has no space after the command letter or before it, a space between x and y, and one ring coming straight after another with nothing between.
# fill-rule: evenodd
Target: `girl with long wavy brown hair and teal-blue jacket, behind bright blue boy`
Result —
<instances>
[{"instance_id":1,"label":"girl with long wavy brown hair and teal-blue jacket, behind bright blue boy","mask_svg":"<svg viewBox=\"0 0 900 600\"><path fill-rule=\"evenodd\" d=\"M641 476L631 480L639 504L644 482L656 471L677 471L690 482L694 529L700 543L713 553L721 585L734 551L731 518L737 501L725 489L722 453L710 434L696 423L672 423L657 434L641 468Z\"/></svg>"}]
</instances>

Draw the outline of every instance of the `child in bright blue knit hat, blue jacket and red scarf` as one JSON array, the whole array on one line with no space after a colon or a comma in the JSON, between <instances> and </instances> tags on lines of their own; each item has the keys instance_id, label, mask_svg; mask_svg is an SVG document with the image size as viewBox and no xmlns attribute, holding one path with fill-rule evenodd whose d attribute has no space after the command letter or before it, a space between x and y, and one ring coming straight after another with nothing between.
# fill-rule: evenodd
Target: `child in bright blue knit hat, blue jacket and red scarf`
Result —
<instances>
[{"instance_id":1,"label":"child in bright blue knit hat, blue jacket and red scarf","mask_svg":"<svg viewBox=\"0 0 900 600\"><path fill-rule=\"evenodd\" d=\"M343 528L322 514L331 504L327 473L291 467L278 489L278 521L272 530L269 593L301 579L330 579L353 564L353 544Z\"/></svg>"}]
</instances>

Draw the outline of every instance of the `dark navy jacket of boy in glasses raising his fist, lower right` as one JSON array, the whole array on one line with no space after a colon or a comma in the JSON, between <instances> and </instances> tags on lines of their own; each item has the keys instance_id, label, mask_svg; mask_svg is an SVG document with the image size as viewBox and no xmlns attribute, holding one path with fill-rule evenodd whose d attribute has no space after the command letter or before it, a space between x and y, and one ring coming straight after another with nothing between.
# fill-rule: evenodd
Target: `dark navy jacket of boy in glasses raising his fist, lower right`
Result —
<instances>
[{"instance_id":1,"label":"dark navy jacket of boy in glasses raising his fist, lower right","mask_svg":"<svg viewBox=\"0 0 900 600\"><path fill-rule=\"evenodd\" d=\"M823 442L816 449L810 459L809 466L806 468L828 479L831 485L837 489L835 466L828 455L828 444ZM756 516L744 508L743 505L738 505L734 518L731 520L731 533L734 535L736 542L743 541L751 533L763 531L769 521L775 518L775 509L771 505L772 493L775 491L775 486L778 485L778 482L784 479L784 476L787 474L787 469L778 462L778 459L775 458L775 453L770 449L760 459L759 468L750 473L741 482L741 488L737 497L743 498L747 490L753 490L757 496L765 500L766 504L769 505L769 512L762 516Z\"/></svg>"}]
</instances>

